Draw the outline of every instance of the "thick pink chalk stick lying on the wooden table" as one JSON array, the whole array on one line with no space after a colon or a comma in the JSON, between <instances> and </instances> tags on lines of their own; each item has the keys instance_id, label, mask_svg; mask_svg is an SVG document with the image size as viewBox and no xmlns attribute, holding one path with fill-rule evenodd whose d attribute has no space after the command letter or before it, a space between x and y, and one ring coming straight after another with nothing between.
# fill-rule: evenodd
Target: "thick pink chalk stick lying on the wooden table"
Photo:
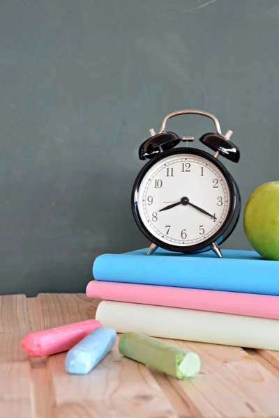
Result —
<instances>
[{"instance_id":1,"label":"thick pink chalk stick lying on the wooden table","mask_svg":"<svg viewBox=\"0 0 279 418\"><path fill-rule=\"evenodd\" d=\"M62 325L48 330L31 332L23 337L20 345L29 357L43 357L68 351L79 343L86 335L103 324L98 320L89 319L77 323Z\"/></svg>"}]
</instances>

